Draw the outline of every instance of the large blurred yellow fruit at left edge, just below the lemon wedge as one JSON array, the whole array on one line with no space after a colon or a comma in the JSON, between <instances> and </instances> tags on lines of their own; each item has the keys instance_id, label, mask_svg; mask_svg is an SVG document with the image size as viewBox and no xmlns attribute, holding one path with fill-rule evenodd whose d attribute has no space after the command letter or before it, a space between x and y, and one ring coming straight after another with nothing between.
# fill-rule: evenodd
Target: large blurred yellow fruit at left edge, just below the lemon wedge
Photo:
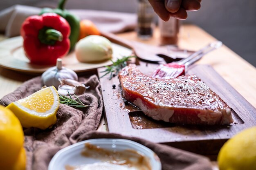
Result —
<instances>
[{"instance_id":1,"label":"large blurred yellow fruit at left edge, just below the lemon wedge","mask_svg":"<svg viewBox=\"0 0 256 170\"><path fill-rule=\"evenodd\" d=\"M0 106L0 170L16 164L23 148L24 134L18 118Z\"/></svg>"}]
</instances>

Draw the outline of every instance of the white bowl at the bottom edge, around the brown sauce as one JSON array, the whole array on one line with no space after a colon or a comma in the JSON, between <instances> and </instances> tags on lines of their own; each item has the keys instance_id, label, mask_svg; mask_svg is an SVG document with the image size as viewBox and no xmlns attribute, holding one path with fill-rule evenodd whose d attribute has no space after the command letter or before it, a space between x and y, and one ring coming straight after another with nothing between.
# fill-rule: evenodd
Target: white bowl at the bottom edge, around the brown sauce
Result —
<instances>
[{"instance_id":1,"label":"white bowl at the bottom edge, around the brown sauce","mask_svg":"<svg viewBox=\"0 0 256 170\"><path fill-rule=\"evenodd\" d=\"M88 163L101 162L100 159L85 157L81 155L82 150L85 148L85 144L90 143L92 145L99 146L100 148L108 150L136 150L140 154L148 157L151 170L161 170L160 159L157 157L155 152L138 144L137 142L126 140L126 139L89 139L81 141L77 144L73 144L62 150L58 151L49 163L48 170L65 170L65 166L78 166Z\"/></svg>"}]
</instances>

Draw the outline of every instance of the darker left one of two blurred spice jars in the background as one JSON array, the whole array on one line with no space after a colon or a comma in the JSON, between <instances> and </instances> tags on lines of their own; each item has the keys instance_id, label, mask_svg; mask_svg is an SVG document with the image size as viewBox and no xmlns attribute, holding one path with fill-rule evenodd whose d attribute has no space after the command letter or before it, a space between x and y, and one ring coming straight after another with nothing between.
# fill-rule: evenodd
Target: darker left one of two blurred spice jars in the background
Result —
<instances>
[{"instance_id":1,"label":"darker left one of two blurred spice jars in the background","mask_svg":"<svg viewBox=\"0 0 256 170\"><path fill-rule=\"evenodd\" d=\"M154 10L148 0L138 0L137 10L137 35L142 40L148 40L153 36Z\"/></svg>"}]
</instances>

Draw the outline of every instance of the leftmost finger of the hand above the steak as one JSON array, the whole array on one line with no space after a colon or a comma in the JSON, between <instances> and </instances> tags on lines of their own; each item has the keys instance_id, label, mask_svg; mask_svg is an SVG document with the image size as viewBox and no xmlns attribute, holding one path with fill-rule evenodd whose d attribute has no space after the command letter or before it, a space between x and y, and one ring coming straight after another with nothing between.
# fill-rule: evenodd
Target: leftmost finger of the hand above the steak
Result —
<instances>
[{"instance_id":1,"label":"leftmost finger of the hand above the steak","mask_svg":"<svg viewBox=\"0 0 256 170\"><path fill-rule=\"evenodd\" d=\"M153 7L155 13L164 21L168 21L170 18L169 12L166 10L162 0L148 0Z\"/></svg>"}]
</instances>

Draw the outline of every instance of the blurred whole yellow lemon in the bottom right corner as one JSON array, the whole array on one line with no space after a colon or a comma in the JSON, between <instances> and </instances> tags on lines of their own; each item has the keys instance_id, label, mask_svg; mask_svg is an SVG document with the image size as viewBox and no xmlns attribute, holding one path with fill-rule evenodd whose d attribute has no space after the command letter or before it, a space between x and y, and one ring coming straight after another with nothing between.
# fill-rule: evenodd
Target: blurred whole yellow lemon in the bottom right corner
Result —
<instances>
[{"instance_id":1,"label":"blurred whole yellow lemon in the bottom right corner","mask_svg":"<svg viewBox=\"0 0 256 170\"><path fill-rule=\"evenodd\" d=\"M220 170L256 170L256 126L229 139L217 161Z\"/></svg>"}]
</instances>

